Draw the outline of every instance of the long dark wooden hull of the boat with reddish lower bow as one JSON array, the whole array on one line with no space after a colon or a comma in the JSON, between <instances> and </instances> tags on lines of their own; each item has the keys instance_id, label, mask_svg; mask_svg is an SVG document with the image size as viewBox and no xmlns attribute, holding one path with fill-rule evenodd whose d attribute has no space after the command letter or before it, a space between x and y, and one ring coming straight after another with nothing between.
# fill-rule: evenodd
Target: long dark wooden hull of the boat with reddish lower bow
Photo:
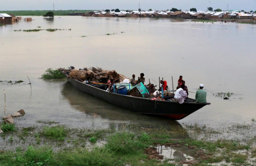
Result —
<instances>
[{"instance_id":1,"label":"long dark wooden hull of the boat with reddish lower bow","mask_svg":"<svg viewBox=\"0 0 256 166\"><path fill-rule=\"evenodd\" d=\"M183 104L179 104L176 101L151 100L148 98L110 93L92 86L93 83L83 83L69 77L69 73L65 73L62 70L60 71L65 75L66 79L80 91L102 99L113 105L141 114L161 116L173 120L181 120L184 117L199 110L203 106L211 104L197 103L195 102L195 99L190 98Z\"/></svg>"}]
</instances>

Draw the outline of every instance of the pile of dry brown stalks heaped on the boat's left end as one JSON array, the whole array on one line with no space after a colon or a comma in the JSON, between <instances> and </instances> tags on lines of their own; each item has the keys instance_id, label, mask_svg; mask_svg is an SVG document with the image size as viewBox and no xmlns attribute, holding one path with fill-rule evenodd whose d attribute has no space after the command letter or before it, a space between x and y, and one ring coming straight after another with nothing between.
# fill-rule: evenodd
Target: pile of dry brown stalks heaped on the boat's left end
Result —
<instances>
[{"instance_id":1,"label":"pile of dry brown stalks heaped on the boat's left end","mask_svg":"<svg viewBox=\"0 0 256 166\"><path fill-rule=\"evenodd\" d=\"M63 70L63 69L62 69ZM83 70L70 70L69 76L79 81L91 80L101 81L102 78L113 79L115 82L123 81L125 76L118 74L115 70L103 70L102 68L84 68Z\"/></svg>"}]
</instances>

